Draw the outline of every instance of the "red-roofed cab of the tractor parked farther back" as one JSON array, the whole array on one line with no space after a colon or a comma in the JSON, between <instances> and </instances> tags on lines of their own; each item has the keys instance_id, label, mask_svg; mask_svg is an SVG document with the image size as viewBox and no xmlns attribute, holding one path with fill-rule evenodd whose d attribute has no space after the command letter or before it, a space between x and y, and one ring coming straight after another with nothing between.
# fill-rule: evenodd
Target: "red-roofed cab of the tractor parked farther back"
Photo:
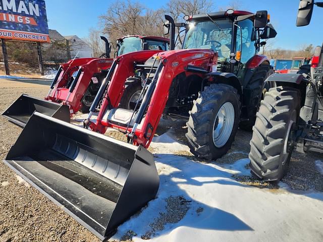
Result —
<instances>
[{"instance_id":1,"label":"red-roofed cab of the tractor parked farther back","mask_svg":"<svg viewBox=\"0 0 323 242\"><path fill-rule=\"evenodd\" d=\"M117 51L115 55L135 52L139 50L168 50L169 39L156 36L129 35L117 40Z\"/></svg>"}]
</instances>

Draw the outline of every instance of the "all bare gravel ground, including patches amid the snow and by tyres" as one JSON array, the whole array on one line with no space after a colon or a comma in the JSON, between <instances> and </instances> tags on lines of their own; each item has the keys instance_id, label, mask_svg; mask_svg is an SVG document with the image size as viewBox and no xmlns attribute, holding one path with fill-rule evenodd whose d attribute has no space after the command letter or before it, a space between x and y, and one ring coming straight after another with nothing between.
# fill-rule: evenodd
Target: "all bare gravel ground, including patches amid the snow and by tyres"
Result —
<instances>
[{"instance_id":1,"label":"all bare gravel ground, including patches amid the snow and by tyres","mask_svg":"<svg viewBox=\"0 0 323 242\"><path fill-rule=\"evenodd\" d=\"M46 85L0 79L0 111L3 112L22 93L43 97L47 91L48 86ZM36 189L25 183L2 162L19 136L21 129L9 123L2 116L0 116L0 121L2 123L0 126L0 241L99 241L92 233L79 225ZM175 129L179 142L185 144L185 122L174 123L162 119L156 135L162 135L170 128ZM107 135L121 140L125 137L112 130L109 130ZM220 165L232 164L238 159L247 158L250 139L251 133L239 131L228 154L213 162ZM154 153L153 149L149 150ZM205 162L187 151L178 151L176 155L197 162ZM303 156L294 153L288 175L283 179L283 182L294 190L323 191L323 175L315 167L315 160L318 159L322 160L321 154L309 153ZM279 187L263 183L251 175L234 175L233 177L250 186L279 189ZM182 197L170 197L167 202L170 203L167 212L161 213L151 224L151 230L146 233L147 238L163 229L166 223L182 219L189 208L189 201ZM197 209L196 212L200 213L202 209ZM128 231L124 239L131 239L133 235L135 235L133 231Z\"/></svg>"}]
</instances>

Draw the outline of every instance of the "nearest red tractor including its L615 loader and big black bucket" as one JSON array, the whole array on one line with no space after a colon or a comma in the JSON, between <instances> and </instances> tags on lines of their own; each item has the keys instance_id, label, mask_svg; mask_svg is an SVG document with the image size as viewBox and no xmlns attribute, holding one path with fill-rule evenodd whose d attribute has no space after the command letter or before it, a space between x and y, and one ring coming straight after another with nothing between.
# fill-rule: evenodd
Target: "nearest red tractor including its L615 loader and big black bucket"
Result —
<instances>
[{"instance_id":1,"label":"nearest red tractor including its L615 loader and big black bucket","mask_svg":"<svg viewBox=\"0 0 323 242\"><path fill-rule=\"evenodd\" d=\"M230 148L239 123L253 125L269 88L264 80L273 70L267 57L257 54L265 44L261 39L277 34L267 11L186 16L186 23L166 19L171 50L114 59L84 121L95 132L35 112L6 157L10 167L101 239L158 191L153 156L145 148L161 115L186 119L192 153L216 159ZM178 50L175 27L185 28ZM123 132L130 144L102 135L107 128Z\"/></svg>"}]
</instances>

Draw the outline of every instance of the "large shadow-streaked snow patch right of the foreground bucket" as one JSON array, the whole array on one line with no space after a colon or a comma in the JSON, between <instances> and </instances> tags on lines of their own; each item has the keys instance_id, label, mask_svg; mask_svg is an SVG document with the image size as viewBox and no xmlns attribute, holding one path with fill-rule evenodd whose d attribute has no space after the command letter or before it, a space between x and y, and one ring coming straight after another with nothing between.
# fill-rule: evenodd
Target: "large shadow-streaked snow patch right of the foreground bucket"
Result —
<instances>
[{"instance_id":1,"label":"large shadow-streaked snow patch right of the foreground bucket","mask_svg":"<svg viewBox=\"0 0 323 242\"><path fill-rule=\"evenodd\" d=\"M322 205L322 193L273 193L243 185L232 174L250 175L248 158L216 165L174 155L173 151L187 147L176 140L172 129L154 137L151 146L157 150L157 196L120 225L112 240L119 241L131 231L134 242L146 241L143 238L160 214L167 212L171 196L191 201L190 208L180 221L166 223L149 241L300 241L323 236L323 231L319 235L311 232L313 226L320 226L323 217L323 211L317 210Z\"/></svg>"}]
</instances>

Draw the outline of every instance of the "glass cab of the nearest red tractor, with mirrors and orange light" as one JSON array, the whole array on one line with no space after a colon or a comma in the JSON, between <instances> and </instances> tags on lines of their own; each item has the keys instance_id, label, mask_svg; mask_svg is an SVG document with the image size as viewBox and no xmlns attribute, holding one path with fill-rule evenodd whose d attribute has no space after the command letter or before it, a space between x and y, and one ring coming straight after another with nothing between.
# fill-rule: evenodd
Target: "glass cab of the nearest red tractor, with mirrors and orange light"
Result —
<instances>
[{"instance_id":1,"label":"glass cab of the nearest red tractor, with mirrors and orange light","mask_svg":"<svg viewBox=\"0 0 323 242\"><path fill-rule=\"evenodd\" d=\"M212 49L218 52L218 72L238 74L276 31L266 11L217 12L185 16L183 49ZM231 65L230 65L231 64Z\"/></svg>"}]
</instances>

